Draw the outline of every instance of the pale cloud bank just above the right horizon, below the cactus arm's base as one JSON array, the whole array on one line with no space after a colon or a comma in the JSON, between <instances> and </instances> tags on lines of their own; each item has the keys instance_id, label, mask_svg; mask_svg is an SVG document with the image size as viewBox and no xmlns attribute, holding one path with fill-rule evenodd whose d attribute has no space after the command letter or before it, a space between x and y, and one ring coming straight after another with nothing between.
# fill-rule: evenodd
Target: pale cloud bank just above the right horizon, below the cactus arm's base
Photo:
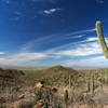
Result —
<instances>
[{"instance_id":1,"label":"pale cloud bank just above the right horizon, below the cactus arm's base","mask_svg":"<svg viewBox=\"0 0 108 108\"><path fill-rule=\"evenodd\" d=\"M65 66L71 66L71 67L107 67L108 59L105 58L105 56L96 56L85 59L76 59L76 60L65 60L60 63Z\"/></svg>"}]
</instances>

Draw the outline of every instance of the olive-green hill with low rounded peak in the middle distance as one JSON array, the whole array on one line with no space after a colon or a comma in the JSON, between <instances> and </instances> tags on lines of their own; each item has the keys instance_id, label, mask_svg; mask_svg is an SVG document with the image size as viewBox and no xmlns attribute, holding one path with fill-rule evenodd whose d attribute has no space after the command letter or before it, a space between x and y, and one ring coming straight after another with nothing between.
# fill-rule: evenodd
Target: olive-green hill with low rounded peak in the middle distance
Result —
<instances>
[{"instance_id":1,"label":"olive-green hill with low rounded peak in the middle distance","mask_svg":"<svg viewBox=\"0 0 108 108\"><path fill-rule=\"evenodd\" d=\"M69 76L71 79L77 79L79 72L75 69L54 66L43 70L25 71L27 84L33 84L39 81L45 81L48 84L63 84L68 83Z\"/></svg>"}]
</instances>

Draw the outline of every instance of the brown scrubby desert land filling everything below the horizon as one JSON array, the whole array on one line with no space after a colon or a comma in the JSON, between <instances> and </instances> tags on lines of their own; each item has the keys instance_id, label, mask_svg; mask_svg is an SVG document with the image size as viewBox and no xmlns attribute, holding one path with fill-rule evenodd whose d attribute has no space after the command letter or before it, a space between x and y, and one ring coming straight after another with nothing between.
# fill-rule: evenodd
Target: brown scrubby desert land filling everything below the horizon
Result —
<instances>
[{"instance_id":1,"label":"brown scrubby desert land filling everything below the horizon","mask_svg":"<svg viewBox=\"0 0 108 108\"><path fill-rule=\"evenodd\" d=\"M15 69L1 68L0 81L4 81L11 92L8 86L3 86L0 106L4 106L3 108L107 108L107 70L79 72L56 66L33 72L19 72Z\"/></svg>"}]
</instances>

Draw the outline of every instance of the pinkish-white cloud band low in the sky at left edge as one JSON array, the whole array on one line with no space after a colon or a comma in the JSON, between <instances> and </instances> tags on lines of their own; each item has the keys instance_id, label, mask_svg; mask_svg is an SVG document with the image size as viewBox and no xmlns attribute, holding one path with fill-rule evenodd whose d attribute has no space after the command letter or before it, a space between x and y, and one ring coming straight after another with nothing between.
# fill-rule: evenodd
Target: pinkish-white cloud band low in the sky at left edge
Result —
<instances>
[{"instance_id":1,"label":"pinkish-white cloud band low in the sky at left edge","mask_svg":"<svg viewBox=\"0 0 108 108\"><path fill-rule=\"evenodd\" d=\"M44 53L18 53L6 58L0 58L2 65L22 66L36 59L45 58L48 55Z\"/></svg>"}]
</instances>

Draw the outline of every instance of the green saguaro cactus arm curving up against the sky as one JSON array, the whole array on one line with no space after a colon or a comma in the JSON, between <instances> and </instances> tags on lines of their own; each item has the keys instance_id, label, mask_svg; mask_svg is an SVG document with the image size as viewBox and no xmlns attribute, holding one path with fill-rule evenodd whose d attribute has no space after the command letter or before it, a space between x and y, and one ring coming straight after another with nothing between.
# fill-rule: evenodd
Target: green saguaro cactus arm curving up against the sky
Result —
<instances>
[{"instance_id":1,"label":"green saguaro cactus arm curving up against the sky","mask_svg":"<svg viewBox=\"0 0 108 108\"><path fill-rule=\"evenodd\" d=\"M104 38L104 31L103 31L103 27L102 27L102 22L96 22L96 32L97 32L97 37L98 37L98 41L100 43L102 50L104 52L104 55L106 58L108 58L108 48Z\"/></svg>"}]
</instances>

